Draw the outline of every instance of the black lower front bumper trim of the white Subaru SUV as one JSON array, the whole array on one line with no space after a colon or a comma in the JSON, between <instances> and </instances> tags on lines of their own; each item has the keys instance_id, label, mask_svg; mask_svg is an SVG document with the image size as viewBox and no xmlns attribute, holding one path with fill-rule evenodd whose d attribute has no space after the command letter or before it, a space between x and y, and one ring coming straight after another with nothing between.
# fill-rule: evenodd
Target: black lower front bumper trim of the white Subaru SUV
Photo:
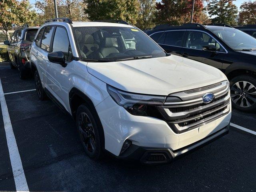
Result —
<instances>
[{"instance_id":1,"label":"black lower front bumper trim of the white Subaru SUV","mask_svg":"<svg viewBox=\"0 0 256 192\"><path fill-rule=\"evenodd\" d=\"M199 140L198 142L178 150L171 150L169 148L142 147L132 144L128 150L126 150L120 156L117 156L117 158L125 160L136 160L140 161L142 164L168 164L181 156L193 152L198 148L202 148L214 140L217 140L218 138L228 134L228 132L229 125L215 132L214 134Z\"/></svg>"}]
</instances>

